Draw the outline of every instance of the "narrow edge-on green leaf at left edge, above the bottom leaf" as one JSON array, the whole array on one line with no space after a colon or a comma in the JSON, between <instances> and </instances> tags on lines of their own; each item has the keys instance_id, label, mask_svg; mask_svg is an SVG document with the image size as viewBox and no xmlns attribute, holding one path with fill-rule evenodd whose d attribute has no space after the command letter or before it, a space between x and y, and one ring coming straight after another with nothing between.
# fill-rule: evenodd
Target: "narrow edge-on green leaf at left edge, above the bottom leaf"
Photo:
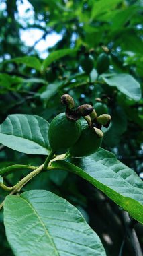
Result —
<instances>
[{"instance_id":1,"label":"narrow edge-on green leaf at left edge, above the bottom leaf","mask_svg":"<svg viewBox=\"0 0 143 256\"><path fill-rule=\"evenodd\" d=\"M30 165L23 165L23 164L13 164L11 166L7 166L0 170L0 174L3 176L7 176L11 172L15 172L15 170L34 170L35 168Z\"/></svg>"}]
</instances>

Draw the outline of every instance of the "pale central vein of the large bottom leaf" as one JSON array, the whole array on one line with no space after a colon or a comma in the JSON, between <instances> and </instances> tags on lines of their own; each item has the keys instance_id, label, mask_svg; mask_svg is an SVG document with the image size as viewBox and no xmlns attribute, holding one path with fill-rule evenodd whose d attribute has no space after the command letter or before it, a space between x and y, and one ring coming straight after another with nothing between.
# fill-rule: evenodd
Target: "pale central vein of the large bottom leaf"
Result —
<instances>
[{"instance_id":1,"label":"pale central vein of the large bottom leaf","mask_svg":"<svg viewBox=\"0 0 143 256\"><path fill-rule=\"evenodd\" d=\"M44 222L42 222L42 219L40 218L40 216L38 215L38 213L36 212L36 210L34 209L34 207L32 207L32 204L29 203L29 202L28 202L26 199L24 199L22 196L21 196L21 199L23 199L23 201L25 201L25 202L28 204L28 206L32 209L32 211L34 212L34 214L36 215L36 217L37 217L38 220L40 221L41 226L44 228L45 234L46 234L46 235L48 236L48 238L50 239L51 244L52 244L52 246L54 247L54 251L56 252L56 255L60 256L60 254L59 254L58 251L57 251L56 245L55 245L55 243L54 243L52 237L50 236L50 233L49 233L48 230L46 229L46 226L44 225Z\"/></svg>"}]
</instances>

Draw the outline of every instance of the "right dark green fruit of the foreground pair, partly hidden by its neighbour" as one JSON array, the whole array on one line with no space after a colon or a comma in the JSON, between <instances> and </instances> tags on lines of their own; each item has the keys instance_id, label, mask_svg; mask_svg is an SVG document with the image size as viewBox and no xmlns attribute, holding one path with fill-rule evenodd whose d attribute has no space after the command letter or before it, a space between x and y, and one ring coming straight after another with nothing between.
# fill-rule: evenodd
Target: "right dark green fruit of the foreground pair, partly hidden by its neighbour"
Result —
<instances>
[{"instance_id":1,"label":"right dark green fruit of the foreground pair, partly hidden by its neighbour","mask_svg":"<svg viewBox=\"0 0 143 256\"><path fill-rule=\"evenodd\" d=\"M89 156L98 150L101 146L103 135L99 137L100 135L95 133L95 129L96 128L89 127L88 125L82 125L81 136L69 149L71 156ZM100 131L99 129L97 130Z\"/></svg>"}]
</instances>

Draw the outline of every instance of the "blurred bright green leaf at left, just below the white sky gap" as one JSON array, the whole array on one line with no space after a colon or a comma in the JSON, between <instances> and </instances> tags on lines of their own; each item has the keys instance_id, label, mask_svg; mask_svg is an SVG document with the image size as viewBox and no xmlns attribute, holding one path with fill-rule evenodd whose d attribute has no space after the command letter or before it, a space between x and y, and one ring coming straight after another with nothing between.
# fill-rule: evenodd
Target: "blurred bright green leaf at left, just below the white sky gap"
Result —
<instances>
[{"instance_id":1,"label":"blurred bright green leaf at left, just below the white sky gap","mask_svg":"<svg viewBox=\"0 0 143 256\"><path fill-rule=\"evenodd\" d=\"M17 64L25 64L27 67L32 67L33 69L36 69L38 71L40 71L41 65L42 65L38 58L32 57L32 56L15 58L15 59L9 60L8 62L15 62Z\"/></svg>"}]
</instances>

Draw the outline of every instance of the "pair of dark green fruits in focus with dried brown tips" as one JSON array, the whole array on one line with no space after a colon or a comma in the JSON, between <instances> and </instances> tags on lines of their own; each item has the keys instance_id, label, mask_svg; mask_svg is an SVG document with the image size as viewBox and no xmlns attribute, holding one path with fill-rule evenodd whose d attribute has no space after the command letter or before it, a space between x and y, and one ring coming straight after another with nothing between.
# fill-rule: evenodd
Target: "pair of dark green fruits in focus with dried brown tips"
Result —
<instances>
[{"instance_id":1,"label":"pair of dark green fruits in focus with dried brown tips","mask_svg":"<svg viewBox=\"0 0 143 256\"><path fill-rule=\"evenodd\" d=\"M68 151L70 156L93 154L101 146L101 127L109 126L111 116L97 116L95 109L89 104L75 108L75 102L68 94L62 95L62 104L66 106L65 113L54 117L49 127L48 138L52 151L54 154Z\"/></svg>"}]
</instances>

